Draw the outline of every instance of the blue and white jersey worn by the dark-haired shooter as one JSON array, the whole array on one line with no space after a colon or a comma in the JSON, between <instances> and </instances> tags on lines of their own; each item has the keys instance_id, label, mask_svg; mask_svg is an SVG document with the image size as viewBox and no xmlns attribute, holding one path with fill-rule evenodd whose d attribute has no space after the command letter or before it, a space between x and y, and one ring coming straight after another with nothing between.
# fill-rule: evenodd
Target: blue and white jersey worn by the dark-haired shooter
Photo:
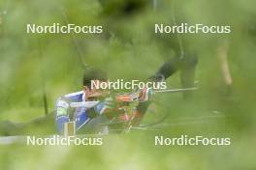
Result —
<instances>
[{"instance_id":1,"label":"blue and white jersey worn by the dark-haired shooter","mask_svg":"<svg viewBox=\"0 0 256 170\"><path fill-rule=\"evenodd\" d=\"M63 133L64 124L73 120L76 122L76 130L78 131L85 124L87 124L91 118L88 116L89 112L95 112L95 114L102 114L106 109L105 102L99 102L93 108L85 108L83 106L77 108L71 108L71 102L85 101L85 94L83 91L72 93L60 97L56 102L56 118L55 123L60 133Z\"/></svg>"}]
</instances>

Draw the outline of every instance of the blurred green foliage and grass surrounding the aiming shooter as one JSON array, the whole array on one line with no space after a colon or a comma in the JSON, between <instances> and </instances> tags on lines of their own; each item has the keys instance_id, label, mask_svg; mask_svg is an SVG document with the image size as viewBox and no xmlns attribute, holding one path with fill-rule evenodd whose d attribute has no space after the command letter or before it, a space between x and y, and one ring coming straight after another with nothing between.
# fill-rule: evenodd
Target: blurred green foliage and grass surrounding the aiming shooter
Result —
<instances>
[{"instance_id":1,"label":"blurred green foliage and grass surrounding the aiming shooter","mask_svg":"<svg viewBox=\"0 0 256 170\"><path fill-rule=\"evenodd\" d=\"M190 101L181 94L155 97L144 124L169 115L164 121L169 126L106 136L101 147L2 145L0 169L255 169L254 7L252 0L1 0L0 121L25 123L42 117L44 100L52 112L59 96L82 88L82 62L108 71L111 79L152 75L177 55L179 45L174 35L155 35L155 23L174 24L175 19L176 24L231 25L232 33L180 36L198 55L195 79L200 90ZM103 25L104 33L26 34L27 23L54 22ZM223 41L229 43L229 90L216 56ZM168 79L168 88L174 87L180 87L178 72ZM231 137L232 144L154 146L155 135L181 134Z\"/></svg>"}]
</instances>

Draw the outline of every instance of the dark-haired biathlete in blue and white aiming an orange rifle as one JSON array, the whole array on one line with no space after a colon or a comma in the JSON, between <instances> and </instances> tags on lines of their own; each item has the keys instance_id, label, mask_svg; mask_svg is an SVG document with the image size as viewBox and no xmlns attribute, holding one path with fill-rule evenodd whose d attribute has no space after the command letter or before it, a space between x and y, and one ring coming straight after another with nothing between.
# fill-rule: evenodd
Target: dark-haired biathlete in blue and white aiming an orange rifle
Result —
<instances>
[{"instance_id":1,"label":"dark-haired biathlete in blue and white aiming an orange rifle","mask_svg":"<svg viewBox=\"0 0 256 170\"><path fill-rule=\"evenodd\" d=\"M81 132L88 130L108 132L108 127L99 126L99 124L107 123L116 117L116 121L119 122L128 122L133 119L133 125L139 124L141 120L140 113L144 112L141 103L149 101L149 96L151 96L150 89L144 89L139 93L138 105L133 109L132 114L128 114L123 102L132 102L133 99L131 96L120 95L112 98L107 92L92 88L91 81L106 82L108 81L107 73L98 69L85 71L82 91L57 99L55 123L60 133L63 133L64 124L70 120L76 123L76 131L80 130ZM71 108L70 106L72 102L78 103L94 100L99 100L99 102L90 108L82 105L76 108Z\"/></svg>"}]
</instances>

